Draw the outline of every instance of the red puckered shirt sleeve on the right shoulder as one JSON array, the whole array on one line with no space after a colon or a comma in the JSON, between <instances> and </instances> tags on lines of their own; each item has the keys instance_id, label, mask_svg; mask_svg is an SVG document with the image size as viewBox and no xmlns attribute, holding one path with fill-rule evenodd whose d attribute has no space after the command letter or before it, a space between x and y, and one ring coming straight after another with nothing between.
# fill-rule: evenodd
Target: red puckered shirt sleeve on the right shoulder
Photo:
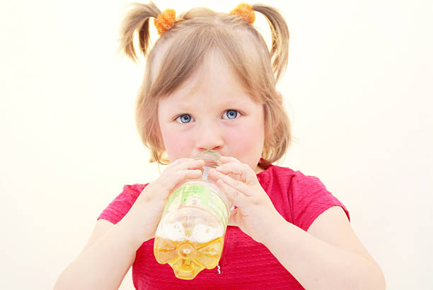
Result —
<instances>
[{"instance_id":1,"label":"red puckered shirt sleeve on the right shoulder","mask_svg":"<svg viewBox=\"0 0 433 290\"><path fill-rule=\"evenodd\" d=\"M349 211L340 200L334 197L315 176L304 175L297 171L289 192L293 205L294 224L308 231L313 221L330 207L342 207L350 221Z\"/></svg>"}]
</instances>

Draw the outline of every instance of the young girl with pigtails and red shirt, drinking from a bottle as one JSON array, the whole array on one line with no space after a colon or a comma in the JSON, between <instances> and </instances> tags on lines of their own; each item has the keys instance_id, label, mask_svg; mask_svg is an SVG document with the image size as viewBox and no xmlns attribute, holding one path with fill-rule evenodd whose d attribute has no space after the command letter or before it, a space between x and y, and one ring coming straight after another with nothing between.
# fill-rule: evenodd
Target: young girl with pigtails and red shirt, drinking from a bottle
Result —
<instances>
[{"instance_id":1,"label":"young girl with pigtails and red shirt, drinking from a bottle","mask_svg":"<svg viewBox=\"0 0 433 290\"><path fill-rule=\"evenodd\" d=\"M262 13L272 48L253 27ZM149 21L161 35L148 54ZM150 183L125 185L100 214L79 257L57 289L116 289L129 267L137 289L384 289L379 265L349 223L347 209L322 182L272 165L291 132L275 84L287 65L289 31L275 8L241 4L230 13L194 8L176 17L155 4L134 4L122 26L121 50L146 56L137 127L152 159L169 164ZM236 209L218 267L192 280L175 278L154 257L154 235L166 199L180 182L209 171Z\"/></svg>"}]
</instances>

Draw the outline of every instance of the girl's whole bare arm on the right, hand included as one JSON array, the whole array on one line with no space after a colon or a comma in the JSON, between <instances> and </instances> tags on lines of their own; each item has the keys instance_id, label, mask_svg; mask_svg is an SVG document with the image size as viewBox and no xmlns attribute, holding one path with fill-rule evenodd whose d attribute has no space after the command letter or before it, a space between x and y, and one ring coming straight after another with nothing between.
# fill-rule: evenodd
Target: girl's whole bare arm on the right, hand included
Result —
<instances>
[{"instance_id":1,"label":"girl's whole bare arm on the right, hand included","mask_svg":"<svg viewBox=\"0 0 433 290\"><path fill-rule=\"evenodd\" d=\"M250 166L233 157L220 161L209 177L236 204L231 224L263 243L305 289L385 289L341 207L324 211L306 232L279 214Z\"/></svg>"}]
</instances>

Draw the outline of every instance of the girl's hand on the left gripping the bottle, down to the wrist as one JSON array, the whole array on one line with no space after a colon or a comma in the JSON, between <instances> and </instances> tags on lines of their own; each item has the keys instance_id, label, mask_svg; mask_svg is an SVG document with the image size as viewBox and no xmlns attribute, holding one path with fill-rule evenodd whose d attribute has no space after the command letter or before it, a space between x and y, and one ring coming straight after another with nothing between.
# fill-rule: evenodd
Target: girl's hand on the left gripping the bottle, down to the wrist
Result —
<instances>
[{"instance_id":1,"label":"girl's hand on the left gripping the bottle, down to the wrist","mask_svg":"<svg viewBox=\"0 0 433 290\"><path fill-rule=\"evenodd\" d=\"M129 226L134 243L141 245L154 238L168 196L182 182L200 178L203 166L202 160L180 158L163 170L154 182L144 187L123 219Z\"/></svg>"}]
</instances>

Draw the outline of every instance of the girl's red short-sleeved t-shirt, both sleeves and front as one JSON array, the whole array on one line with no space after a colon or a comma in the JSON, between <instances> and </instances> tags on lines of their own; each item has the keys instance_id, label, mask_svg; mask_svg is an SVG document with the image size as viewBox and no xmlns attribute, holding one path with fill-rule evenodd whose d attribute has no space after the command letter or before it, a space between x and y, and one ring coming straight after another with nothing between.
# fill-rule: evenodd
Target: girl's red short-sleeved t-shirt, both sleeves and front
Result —
<instances>
[{"instance_id":1,"label":"girl's red short-sleeved t-shirt, both sleeves and front","mask_svg":"<svg viewBox=\"0 0 433 290\"><path fill-rule=\"evenodd\" d=\"M304 231L333 206L342 207L350 219L345 206L314 176L271 165L257 178L279 214ZM146 185L125 185L98 219L117 224ZM136 289L304 289L265 245L236 226L227 227L219 267L204 269L192 280L178 279L168 264L156 262L152 238L137 250L132 280Z\"/></svg>"}]
</instances>

